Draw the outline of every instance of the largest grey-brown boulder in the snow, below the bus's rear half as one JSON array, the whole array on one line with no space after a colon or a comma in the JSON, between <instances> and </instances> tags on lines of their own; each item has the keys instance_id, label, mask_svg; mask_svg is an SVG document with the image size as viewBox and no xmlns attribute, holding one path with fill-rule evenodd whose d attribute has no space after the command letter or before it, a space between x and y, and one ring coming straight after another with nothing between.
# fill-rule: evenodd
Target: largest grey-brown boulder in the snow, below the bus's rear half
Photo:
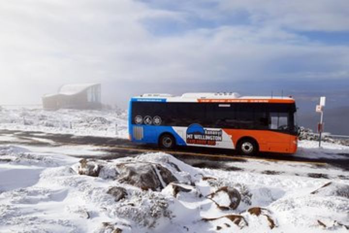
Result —
<instances>
[{"instance_id":1,"label":"largest grey-brown boulder in the snow, below the bus's rear half","mask_svg":"<svg viewBox=\"0 0 349 233\"><path fill-rule=\"evenodd\" d=\"M124 163L117 165L119 182L128 183L143 190L162 190L177 179L167 168L152 163Z\"/></svg>"}]
</instances>

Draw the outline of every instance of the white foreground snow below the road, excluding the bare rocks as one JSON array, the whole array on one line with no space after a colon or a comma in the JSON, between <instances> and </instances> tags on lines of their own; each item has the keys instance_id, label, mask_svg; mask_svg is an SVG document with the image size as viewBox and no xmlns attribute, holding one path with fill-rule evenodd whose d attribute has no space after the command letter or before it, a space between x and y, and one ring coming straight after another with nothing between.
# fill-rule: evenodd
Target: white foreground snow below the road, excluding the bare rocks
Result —
<instances>
[{"instance_id":1,"label":"white foreground snow below the road, excluding the bare rocks","mask_svg":"<svg viewBox=\"0 0 349 233\"><path fill-rule=\"evenodd\" d=\"M333 185L312 194L329 180L295 176L291 172L268 175L258 169L196 168L162 152L109 162L95 160L104 168L98 177L91 177L77 173L78 158L63 154L63 149L56 154L55 148L50 149L53 152L46 154L32 152L26 147L0 147L0 158L7 159L7 162L0 162L0 232L79 233L108 232L117 228L141 233L218 232L218 228L219 232L270 232L268 217L277 226L272 232L347 232L338 223L349 224L349 198L337 195L336 190L347 187L348 180L333 178ZM126 162L164 166L190 191L179 192L174 197L172 185L162 191L144 191L119 183L113 178L115 167ZM258 167L258 163L265 168L300 166L301 170L311 169L287 162L265 164L251 160L241 164ZM349 172L341 170L340 174L349 175ZM113 186L124 187L127 197L115 201L107 194ZM206 198L222 186L234 187L240 192L242 199L236 210L221 210ZM221 202L227 200L224 194L217 198ZM254 206L266 208L268 217L249 214L247 210ZM241 215L248 226L242 222L235 225L224 217L227 215ZM204 218L217 219L205 221ZM327 224L328 229L319 226L317 220Z\"/></svg>"}]
</instances>

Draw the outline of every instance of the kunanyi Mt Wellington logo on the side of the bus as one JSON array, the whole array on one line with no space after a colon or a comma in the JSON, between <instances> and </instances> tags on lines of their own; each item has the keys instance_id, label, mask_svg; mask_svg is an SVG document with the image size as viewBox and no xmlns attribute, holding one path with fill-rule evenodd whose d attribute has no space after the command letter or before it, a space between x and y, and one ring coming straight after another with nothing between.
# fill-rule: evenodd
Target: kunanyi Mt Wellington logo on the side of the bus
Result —
<instances>
[{"instance_id":1,"label":"kunanyi Mt Wellington logo on the side of the bus","mask_svg":"<svg viewBox=\"0 0 349 233\"><path fill-rule=\"evenodd\" d=\"M187 144L215 146L218 141L222 141L222 130L206 130L199 124L187 129Z\"/></svg>"}]
</instances>

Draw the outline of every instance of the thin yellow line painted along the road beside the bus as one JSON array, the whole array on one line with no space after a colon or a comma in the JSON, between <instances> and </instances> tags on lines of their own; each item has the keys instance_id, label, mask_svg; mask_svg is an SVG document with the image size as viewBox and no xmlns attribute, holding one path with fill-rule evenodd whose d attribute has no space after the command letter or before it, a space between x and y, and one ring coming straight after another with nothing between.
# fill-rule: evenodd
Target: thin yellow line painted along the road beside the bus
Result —
<instances>
[{"instance_id":1,"label":"thin yellow line painted along the road beside the bus","mask_svg":"<svg viewBox=\"0 0 349 233\"><path fill-rule=\"evenodd\" d=\"M207 154L207 153L196 153L196 152L187 152L187 151L174 151L174 150L153 150L153 149L140 149L140 148L132 148L132 147L110 147L111 149L118 149L118 150L130 150L130 151L140 151L140 152L164 152L169 154L188 154L193 156L205 156L205 157L212 157L212 158L224 158L224 159L230 159L230 160L255 160L255 161L268 161L268 162L287 162L287 163L301 163L301 164L314 164L314 165L327 165L327 163L321 163L321 162L312 162L312 161L293 161L293 160L278 160L278 159L268 159L268 158L257 158L257 157L241 157L241 156L229 156L224 154ZM282 156L282 155L281 155Z\"/></svg>"}]
</instances>

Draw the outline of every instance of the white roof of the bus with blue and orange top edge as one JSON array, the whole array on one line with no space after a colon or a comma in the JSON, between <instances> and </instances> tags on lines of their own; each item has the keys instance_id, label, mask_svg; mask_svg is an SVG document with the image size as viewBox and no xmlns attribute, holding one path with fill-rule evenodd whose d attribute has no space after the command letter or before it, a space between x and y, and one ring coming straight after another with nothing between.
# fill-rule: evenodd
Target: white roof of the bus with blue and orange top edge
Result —
<instances>
[{"instance_id":1,"label":"white roof of the bus with blue and orange top edge","mask_svg":"<svg viewBox=\"0 0 349 233\"><path fill-rule=\"evenodd\" d=\"M245 103L294 103L292 97L281 96L240 96L235 92L171 94L147 93L136 96L131 101L146 102L245 102Z\"/></svg>"}]
</instances>

